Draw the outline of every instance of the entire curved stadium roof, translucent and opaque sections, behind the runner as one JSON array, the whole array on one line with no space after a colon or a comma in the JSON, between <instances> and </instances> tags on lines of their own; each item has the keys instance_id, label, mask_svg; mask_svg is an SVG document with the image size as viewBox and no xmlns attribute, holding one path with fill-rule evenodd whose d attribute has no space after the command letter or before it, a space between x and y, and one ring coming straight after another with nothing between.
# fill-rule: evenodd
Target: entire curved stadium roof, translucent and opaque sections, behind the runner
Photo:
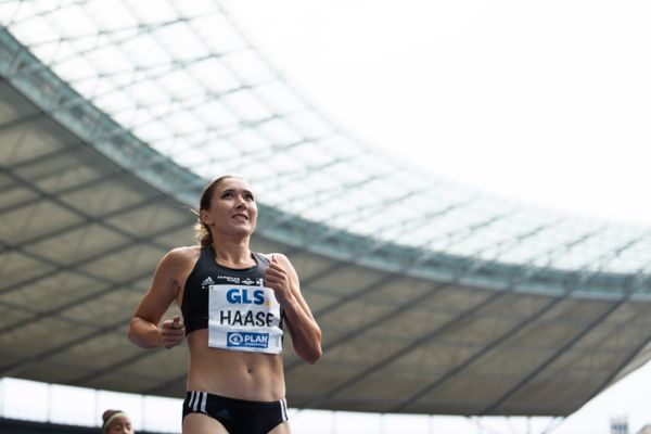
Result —
<instances>
[{"instance_id":1,"label":"entire curved stadium roof, translucent and opaque sections, behind the runner","mask_svg":"<svg viewBox=\"0 0 651 434\"><path fill-rule=\"evenodd\" d=\"M110 9L107 7L110 3ZM409 167L296 92L218 2L0 3L0 372L180 397L130 314L222 174L259 197L323 357L294 408L567 416L651 358L651 228Z\"/></svg>"}]
</instances>

